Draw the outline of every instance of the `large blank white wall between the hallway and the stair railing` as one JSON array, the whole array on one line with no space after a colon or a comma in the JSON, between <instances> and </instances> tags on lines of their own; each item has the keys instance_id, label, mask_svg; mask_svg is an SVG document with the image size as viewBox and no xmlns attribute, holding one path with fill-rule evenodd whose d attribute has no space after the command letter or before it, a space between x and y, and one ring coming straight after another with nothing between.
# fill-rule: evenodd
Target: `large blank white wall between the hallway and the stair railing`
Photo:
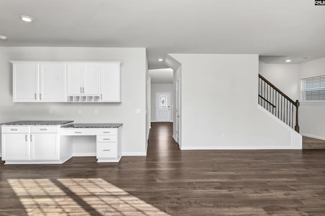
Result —
<instances>
[{"instance_id":1,"label":"large blank white wall between the hallway and the stair railing","mask_svg":"<svg viewBox=\"0 0 325 216\"><path fill-rule=\"evenodd\" d=\"M169 55L182 68L182 149L301 149L301 136L258 106L258 55Z\"/></svg>"}]
</instances>

